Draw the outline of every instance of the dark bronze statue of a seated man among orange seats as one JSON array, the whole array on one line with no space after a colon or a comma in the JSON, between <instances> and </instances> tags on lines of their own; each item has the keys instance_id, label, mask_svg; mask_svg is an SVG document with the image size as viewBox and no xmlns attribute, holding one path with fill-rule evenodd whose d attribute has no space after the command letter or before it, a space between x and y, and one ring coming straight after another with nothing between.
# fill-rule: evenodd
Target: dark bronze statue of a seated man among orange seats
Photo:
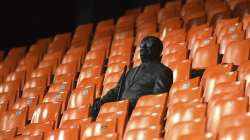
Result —
<instances>
[{"instance_id":1,"label":"dark bronze statue of a seated man among orange seats","mask_svg":"<svg viewBox=\"0 0 250 140\"><path fill-rule=\"evenodd\" d=\"M142 64L129 70L126 76L121 77L115 88L96 100L92 108L93 118L97 116L100 106L104 103L129 100L132 111L141 96L169 91L173 73L160 62L162 43L155 37L146 37L143 41L140 45Z\"/></svg>"}]
</instances>

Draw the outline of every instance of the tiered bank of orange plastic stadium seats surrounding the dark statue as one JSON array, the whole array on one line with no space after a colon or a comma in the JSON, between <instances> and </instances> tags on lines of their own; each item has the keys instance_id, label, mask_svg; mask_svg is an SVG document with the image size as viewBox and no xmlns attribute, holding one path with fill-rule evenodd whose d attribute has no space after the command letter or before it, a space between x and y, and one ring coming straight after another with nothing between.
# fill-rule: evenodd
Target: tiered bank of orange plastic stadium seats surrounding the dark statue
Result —
<instances>
[{"instance_id":1,"label":"tiered bank of orange plastic stadium seats surrounding the dark statue","mask_svg":"<svg viewBox=\"0 0 250 140\"><path fill-rule=\"evenodd\" d=\"M85 24L73 36L11 49L0 64L0 138L248 139L250 20L230 18L223 9L230 5L234 14L241 4L149 5L116 23L101 21L95 32ZM141 63L138 45L147 35L163 41L162 62L174 73L171 90L141 97L130 116L128 101L106 103L92 121L94 100L116 86L125 66ZM204 71L201 78L193 70Z\"/></svg>"}]
</instances>

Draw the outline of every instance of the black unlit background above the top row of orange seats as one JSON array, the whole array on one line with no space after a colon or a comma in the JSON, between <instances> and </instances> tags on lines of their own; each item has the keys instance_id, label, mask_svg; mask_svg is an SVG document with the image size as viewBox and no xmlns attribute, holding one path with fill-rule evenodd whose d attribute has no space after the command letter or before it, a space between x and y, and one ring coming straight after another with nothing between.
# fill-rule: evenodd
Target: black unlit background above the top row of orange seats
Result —
<instances>
[{"instance_id":1,"label":"black unlit background above the top row of orange seats","mask_svg":"<svg viewBox=\"0 0 250 140\"><path fill-rule=\"evenodd\" d=\"M0 4L1 49L72 32L79 24L118 17L127 8L165 0L8 0Z\"/></svg>"}]
</instances>

